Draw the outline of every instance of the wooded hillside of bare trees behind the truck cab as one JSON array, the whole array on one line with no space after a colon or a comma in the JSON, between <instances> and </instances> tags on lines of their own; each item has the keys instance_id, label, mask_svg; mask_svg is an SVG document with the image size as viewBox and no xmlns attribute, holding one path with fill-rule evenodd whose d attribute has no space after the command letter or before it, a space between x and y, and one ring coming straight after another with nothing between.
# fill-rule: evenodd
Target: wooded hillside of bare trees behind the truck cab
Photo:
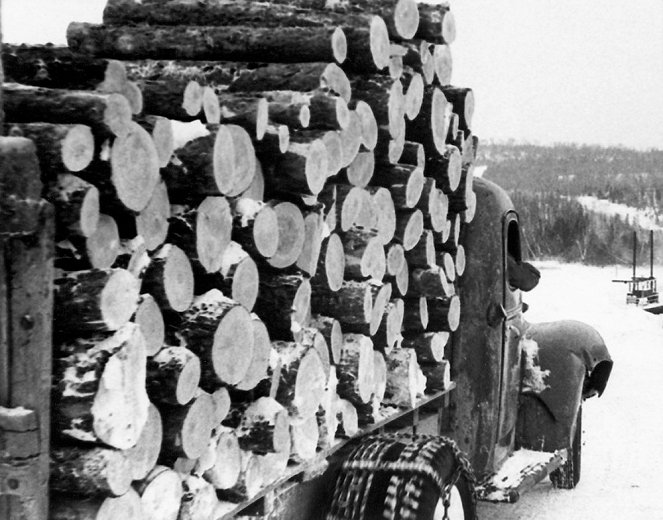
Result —
<instances>
[{"instance_id":1,"label":"wooded hillside of bare trees behind the truck cab","mask_svg":"<svg viewBox=\"0 0 663 520\"><path fill-rule=\"evenodd\" d=\"M573 144L487 143L477 164L505 188L521 217L525 255L593 265L630 264L633 234L638 263L663 263L663 151ZM579 197L623 204L646 214L643 225L626 212L599 213ZM633 213L631 211L631 213Z\"/></svg>"}]
</instances>

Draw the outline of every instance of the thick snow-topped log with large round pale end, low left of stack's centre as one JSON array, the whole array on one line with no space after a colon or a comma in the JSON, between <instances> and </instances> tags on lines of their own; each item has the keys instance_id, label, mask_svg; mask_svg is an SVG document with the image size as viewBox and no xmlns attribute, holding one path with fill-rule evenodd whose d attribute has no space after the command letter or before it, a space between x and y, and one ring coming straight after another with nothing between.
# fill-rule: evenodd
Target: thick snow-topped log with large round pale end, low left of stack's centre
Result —
<instances>
[{"instance_id":1,"label":"thick snow-topped log with large round pale end, low left of stack's centre","mask_svg":"<svg viewBox=\"0 0 663 520\"><path fill-rule=\"evenodd\" d=\"M182 315L176 334L200 357L203 389L235 385L246 375L253 354L251 316L220 291L198 296Z\"/></svg>"}]
</instances>

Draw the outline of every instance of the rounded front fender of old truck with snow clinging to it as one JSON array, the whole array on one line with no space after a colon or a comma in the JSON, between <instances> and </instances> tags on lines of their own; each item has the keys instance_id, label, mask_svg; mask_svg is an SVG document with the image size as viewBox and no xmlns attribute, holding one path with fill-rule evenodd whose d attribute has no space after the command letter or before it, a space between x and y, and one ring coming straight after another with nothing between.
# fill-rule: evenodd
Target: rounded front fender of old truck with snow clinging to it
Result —
<instances>
[{"instance_id":1,"label":"rounded front fender of old truck with snow clinging to it","mask_svg":"<svg viewBox=\"0 0 663 520\"><path fill-rule=\"evenodd\" d=\"M565 448L583 398L605 390L612 370L608 349L594 328L571 320L530 324L522 343L518 444Z\"/></svg>"}]
</instances>

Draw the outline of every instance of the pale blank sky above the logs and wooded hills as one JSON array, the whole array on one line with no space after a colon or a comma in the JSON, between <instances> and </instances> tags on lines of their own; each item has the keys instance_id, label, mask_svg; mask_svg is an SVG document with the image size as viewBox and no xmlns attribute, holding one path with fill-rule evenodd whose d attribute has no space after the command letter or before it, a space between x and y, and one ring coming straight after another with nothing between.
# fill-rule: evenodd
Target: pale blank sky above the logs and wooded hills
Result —
<instances>
[{"instance_id":1,"label":"pale blank sky above the logs and wooded hills","mask_svg":"<svg viewBox=\"0 0 663 520\"><path fill-rule=\"evenodd\" d=\"M1 0L4 41L65 42L106 0ZM481 139L663 149L663 0L452 0Z\"/></svg>"}]
</instances>

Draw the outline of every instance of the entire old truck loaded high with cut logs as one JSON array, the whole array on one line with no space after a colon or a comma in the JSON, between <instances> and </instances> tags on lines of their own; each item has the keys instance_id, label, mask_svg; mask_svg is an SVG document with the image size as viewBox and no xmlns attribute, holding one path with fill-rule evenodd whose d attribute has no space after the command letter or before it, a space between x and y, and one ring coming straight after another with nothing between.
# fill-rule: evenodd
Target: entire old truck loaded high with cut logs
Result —
<instances>
[{"instance_id":1,"label":"entire old truck loaded high with cut logs","mask_svg":"<svg viewBox=\"0 0 663 520\"><path fill-rule=\"evenodd\" d=\"M108 0L3 45L0 518L472 519L575 486L612 361L523 318L455 36L444 3Z\"/></svg>"}]
</instances>

